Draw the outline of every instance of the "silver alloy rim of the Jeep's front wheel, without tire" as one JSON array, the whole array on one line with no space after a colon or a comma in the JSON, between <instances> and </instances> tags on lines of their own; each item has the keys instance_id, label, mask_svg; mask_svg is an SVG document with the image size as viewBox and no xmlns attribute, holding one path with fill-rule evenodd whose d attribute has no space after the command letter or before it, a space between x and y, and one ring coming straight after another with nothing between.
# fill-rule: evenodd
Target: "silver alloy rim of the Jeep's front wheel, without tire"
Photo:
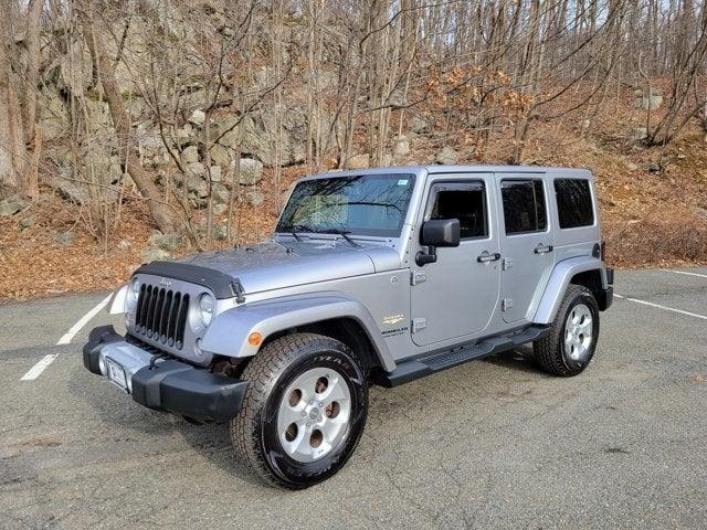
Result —
<instances>
[{"instance_id":1,"label":"silver alloy rim of the Jeep's front wheel, without tire","mask_svg":"<svg viewBox=\"0 0 707 530\"><path fill-rule=\"evenodd\" d=\"M277 436L285 453L298 462L315 462L346 437L351 393L344 377L329 368L300 373L287 386L277 413Z\"/></svg>"}]
</instances>

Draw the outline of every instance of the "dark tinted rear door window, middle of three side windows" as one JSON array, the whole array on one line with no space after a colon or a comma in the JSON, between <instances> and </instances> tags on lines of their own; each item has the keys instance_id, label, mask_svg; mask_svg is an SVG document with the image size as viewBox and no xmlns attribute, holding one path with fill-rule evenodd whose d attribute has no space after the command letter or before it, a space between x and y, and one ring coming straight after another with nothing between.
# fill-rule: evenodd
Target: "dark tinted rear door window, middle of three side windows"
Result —
<instances>
[{"instance_id":1,"label":"dark tinted rear door window, middle of three side windows","mask_svg":"<svg viewBox=\"0 0 707 530\"><path fill-rule=\"evenodd\" d=\"M541 180L504 180L500 191L506 234L538 232L547 227Z\"/></svg>"}]
</instances>

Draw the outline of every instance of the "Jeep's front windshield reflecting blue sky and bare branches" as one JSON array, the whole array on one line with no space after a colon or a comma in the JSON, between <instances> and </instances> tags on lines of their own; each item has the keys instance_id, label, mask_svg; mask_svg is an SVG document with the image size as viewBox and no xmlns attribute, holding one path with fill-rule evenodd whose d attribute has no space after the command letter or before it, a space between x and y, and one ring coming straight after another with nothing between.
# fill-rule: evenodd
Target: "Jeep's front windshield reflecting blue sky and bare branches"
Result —
<instances>
[{"instance_id":1,"label":"Jeep's front windshield reflecting blue sky and bare branches","mask_svg":"<svg viewBox=\"0 0 707 530\"><path fill-rule=\"evenodd\" d=\"M292 192L277 232L400 235L414 174L361 174L305 180Z\"/></svg>"}]
</instances>

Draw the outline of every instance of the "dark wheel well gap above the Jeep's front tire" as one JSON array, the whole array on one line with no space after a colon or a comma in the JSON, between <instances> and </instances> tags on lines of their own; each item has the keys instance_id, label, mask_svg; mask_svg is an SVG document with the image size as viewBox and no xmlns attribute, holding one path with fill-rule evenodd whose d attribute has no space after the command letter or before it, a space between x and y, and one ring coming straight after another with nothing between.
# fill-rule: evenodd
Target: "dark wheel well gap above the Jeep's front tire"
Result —
<instances>
[{"instance_id":1,"label":"dark wheel well gap above the Jeep's front tire","mask_svg":"<svg viewBox=\"0 0 707 530\"><path fill-rule=\"evenodd\" d=\"M263 346L285 335L304 332L324 335L344 342L358 356L367 373L374 368L381 368L380 359L366 329L354 318L333 318L297 326L296 328L284 329L268 336Z\"/></svg>"}]
</instances>

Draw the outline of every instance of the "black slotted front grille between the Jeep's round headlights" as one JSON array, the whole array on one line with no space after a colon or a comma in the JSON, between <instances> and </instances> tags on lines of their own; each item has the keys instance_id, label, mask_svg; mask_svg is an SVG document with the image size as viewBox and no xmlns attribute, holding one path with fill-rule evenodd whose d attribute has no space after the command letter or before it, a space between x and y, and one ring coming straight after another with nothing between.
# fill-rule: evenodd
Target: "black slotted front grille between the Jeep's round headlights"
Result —
<instances>
[{"instance_id":1,"label":"black slotted front grille between the Jeep's round headlights","mask_svg":"<svg viewBox=\"0 0 707 530\"><path fill-rule=\"evenodd\" d=\"M154 342L181 350L188 311L188 294L143 284L137 298L135 331Z\"/></svg>"}]
</instances>

